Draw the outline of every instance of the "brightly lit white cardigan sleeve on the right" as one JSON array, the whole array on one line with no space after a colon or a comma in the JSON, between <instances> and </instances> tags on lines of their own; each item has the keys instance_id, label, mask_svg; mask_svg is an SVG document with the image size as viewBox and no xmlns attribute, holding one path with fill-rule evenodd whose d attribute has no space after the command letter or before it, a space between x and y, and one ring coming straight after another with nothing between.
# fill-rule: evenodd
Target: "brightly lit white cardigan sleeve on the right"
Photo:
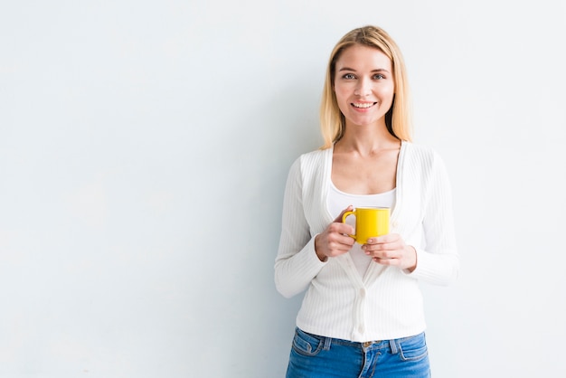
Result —
<instances>
[{"instance_id":1,"label":"brightly lit white cardigan sleeve on the right","mask_svg":"<svg viewBox=\"0 0 566 378\"><path fill-rule=\"evenodd\" d=\"M425 244L416 249L417 268L410 276L448 285L458 278L459 271L452 193L443 160L436 153L431 157L422 220Z\"/></svg>"}]
</instances>

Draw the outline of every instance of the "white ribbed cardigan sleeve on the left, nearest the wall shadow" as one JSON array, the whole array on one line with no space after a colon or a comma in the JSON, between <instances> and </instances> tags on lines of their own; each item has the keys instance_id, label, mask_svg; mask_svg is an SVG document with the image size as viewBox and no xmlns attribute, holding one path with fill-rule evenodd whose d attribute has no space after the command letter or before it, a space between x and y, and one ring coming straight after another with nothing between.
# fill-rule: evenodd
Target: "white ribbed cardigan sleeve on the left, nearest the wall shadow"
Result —
<instances>
[{"instance_id":1,"label":"white ribbed cardigan sleeve on the left, nearest the wall shadow","mask_svg":"<svg viewBox=\"0 0 566 378\"><path fill-rule=\"evenodd\" d=\"M275 286L283 297L291 298L304 291L326 263L316 256L316 235L311 235L305 216L300 158L289 170L281 221Z\"/></svg>"}]
</instances>

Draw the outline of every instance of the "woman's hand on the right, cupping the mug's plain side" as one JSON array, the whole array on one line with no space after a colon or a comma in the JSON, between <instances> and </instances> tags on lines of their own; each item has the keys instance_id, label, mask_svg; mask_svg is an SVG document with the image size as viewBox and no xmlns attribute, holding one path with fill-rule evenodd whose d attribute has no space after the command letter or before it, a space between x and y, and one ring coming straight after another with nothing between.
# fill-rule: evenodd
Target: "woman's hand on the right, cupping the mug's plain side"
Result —
<instances>
[{"instance_id":1,"label":"woman's hand on the right, cupping the mug's plain side","mask_svg":"<svg viewBox=\"0 0 566 378\"><path fill-rule=\"evenodd\" d=\"M391 265L413 271L417 268L417 250L405 244L398 233L368 239L362 250L373 261L382 265Z\"/></svg>"}]
</instances>

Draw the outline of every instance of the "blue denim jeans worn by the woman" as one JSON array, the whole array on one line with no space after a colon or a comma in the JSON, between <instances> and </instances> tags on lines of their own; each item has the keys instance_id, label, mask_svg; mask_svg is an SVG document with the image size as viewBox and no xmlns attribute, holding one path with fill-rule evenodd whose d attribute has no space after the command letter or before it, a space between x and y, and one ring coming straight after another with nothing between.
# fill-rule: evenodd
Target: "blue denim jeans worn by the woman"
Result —
<instances>
[{"instance_id":1,"label":"blue denim jeans worn by the woman","mask_svg":"<svg viewBox=\"0 0 566 378\"><path fill-rule=\"evenodd\" d=\"M371 343L295 331L287 378L429 378L424 333Z\"/></svg>"}]
</instances>

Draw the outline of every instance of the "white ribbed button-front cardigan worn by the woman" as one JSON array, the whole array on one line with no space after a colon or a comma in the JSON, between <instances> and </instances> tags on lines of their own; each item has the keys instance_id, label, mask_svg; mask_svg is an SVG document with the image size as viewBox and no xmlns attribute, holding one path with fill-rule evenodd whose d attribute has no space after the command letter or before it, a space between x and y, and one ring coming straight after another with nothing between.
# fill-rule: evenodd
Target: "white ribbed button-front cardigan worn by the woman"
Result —
<instances>
[{"instance_id":1,"label":"white ribbed button-front cardigan worn by the woman","mask_svg":"<svg viewBox=\"0 0 566 378\"><path fill-rule=\"evenodd\" d=\"M452 198L445 165L430 148L401 143L390 232L417 250L411 273L372 262L362 277L349 253L318 260L315 236L334 221L327 208L333 148L291 166L275 260L275 284L290 298L305 289L297 326L316 335L365 342L425 330L419 280L446 285L458 276Z\"/></svg>"}]
</instances>

